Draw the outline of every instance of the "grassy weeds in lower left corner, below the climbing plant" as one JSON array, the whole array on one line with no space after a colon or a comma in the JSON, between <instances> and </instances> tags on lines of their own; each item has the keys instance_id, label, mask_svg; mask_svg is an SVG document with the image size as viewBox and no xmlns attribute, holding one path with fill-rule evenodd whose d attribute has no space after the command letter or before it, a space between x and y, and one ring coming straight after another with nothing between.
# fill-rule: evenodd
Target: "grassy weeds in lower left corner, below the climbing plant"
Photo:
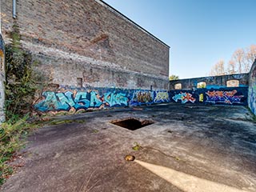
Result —
<instances>
[{"instance_id":1,"label":"grassy weeds in lower left corner, below the climbing plant","mask_svg":"<svg viewBox=\"0 0 256 192\"><path fill-rule=\"evenodd\" d=\"M14 156L17 150L20 150L25 144L25 138L31 126L26 122L25 116L17 122L4 122L0 127L0 186L6 178L13 173L14 167L6 164Z\"/></svg>"}]
</instances>

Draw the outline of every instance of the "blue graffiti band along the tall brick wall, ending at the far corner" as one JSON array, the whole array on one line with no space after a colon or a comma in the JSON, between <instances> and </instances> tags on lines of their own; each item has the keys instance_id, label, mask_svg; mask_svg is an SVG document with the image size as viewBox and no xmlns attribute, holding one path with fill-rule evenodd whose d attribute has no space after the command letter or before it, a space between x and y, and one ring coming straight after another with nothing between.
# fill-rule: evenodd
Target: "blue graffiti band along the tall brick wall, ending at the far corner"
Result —
<instances>
[{"instance_id":1,"label":"blue graffiti band along the tall brick wall, ending at the far corner","mask_svg":"<svg viewBox=\"0 0 256 192\"><path fill-rule=\"evenodd\" d=\"M115 106L141 106L170 102L167 91L115 90L98 88L95 90L45 91L34 109L42 112L87 110Z\"/></svg>"}]
</instances>

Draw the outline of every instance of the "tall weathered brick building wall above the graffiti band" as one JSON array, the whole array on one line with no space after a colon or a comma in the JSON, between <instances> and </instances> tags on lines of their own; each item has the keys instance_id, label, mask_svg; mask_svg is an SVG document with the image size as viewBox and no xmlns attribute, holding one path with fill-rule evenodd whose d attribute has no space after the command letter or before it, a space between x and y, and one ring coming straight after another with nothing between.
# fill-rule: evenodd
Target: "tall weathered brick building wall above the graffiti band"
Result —
<instances>
[{"instance_id":1,"label":"tall weathered brick building wall above the graffiti band","mask_svg":"<svg viewBox=\"0 0 256 192\"><path fill-rule=\"evenodd\" d=\"M167 88L169 46L101 1L18 0L16 19L12 1L3 1L6 42L14 20L22 46L56 84Z\"/></svg>"}]
</instances>

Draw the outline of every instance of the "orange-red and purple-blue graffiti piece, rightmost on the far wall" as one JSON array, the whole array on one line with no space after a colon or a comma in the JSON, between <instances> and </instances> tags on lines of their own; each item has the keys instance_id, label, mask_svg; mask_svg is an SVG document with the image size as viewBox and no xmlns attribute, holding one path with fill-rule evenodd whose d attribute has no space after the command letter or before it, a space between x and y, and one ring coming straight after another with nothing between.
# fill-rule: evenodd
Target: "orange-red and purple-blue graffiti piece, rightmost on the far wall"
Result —
<instances>
[{"instance_id":1,"label":"orange-red and purple-blue graffiti piece, rightmost on the far wall","mask_svg":"<svg viewBox=\"0 0 256 192\"><path fill-rule=\"evenodd\" d=\"M210 103L226 103L226 104L234 104L234 103L241 103L241 98L244 95L235 95L237 94L237 90L232 91L224 91L224 90L208 90L206 92L206 102Z\"/></svg>"}]
</instances>

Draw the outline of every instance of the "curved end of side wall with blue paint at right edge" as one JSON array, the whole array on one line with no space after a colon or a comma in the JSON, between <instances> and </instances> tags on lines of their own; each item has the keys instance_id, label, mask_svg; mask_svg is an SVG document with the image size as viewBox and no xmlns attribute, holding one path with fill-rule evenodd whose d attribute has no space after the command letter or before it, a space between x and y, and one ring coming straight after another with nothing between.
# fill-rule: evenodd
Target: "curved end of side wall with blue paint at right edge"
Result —
<instances>
[{"instance_id":1,"label":"curved end of side wall with blue paint at right edge","mask_svg":"<svg viewBox=\"0 0 256 192\"><path fill-rule=\"evenodd\" d=\"M248 105L256 115L256 59L249 73Z\"/></svg>"}]
</instances>

